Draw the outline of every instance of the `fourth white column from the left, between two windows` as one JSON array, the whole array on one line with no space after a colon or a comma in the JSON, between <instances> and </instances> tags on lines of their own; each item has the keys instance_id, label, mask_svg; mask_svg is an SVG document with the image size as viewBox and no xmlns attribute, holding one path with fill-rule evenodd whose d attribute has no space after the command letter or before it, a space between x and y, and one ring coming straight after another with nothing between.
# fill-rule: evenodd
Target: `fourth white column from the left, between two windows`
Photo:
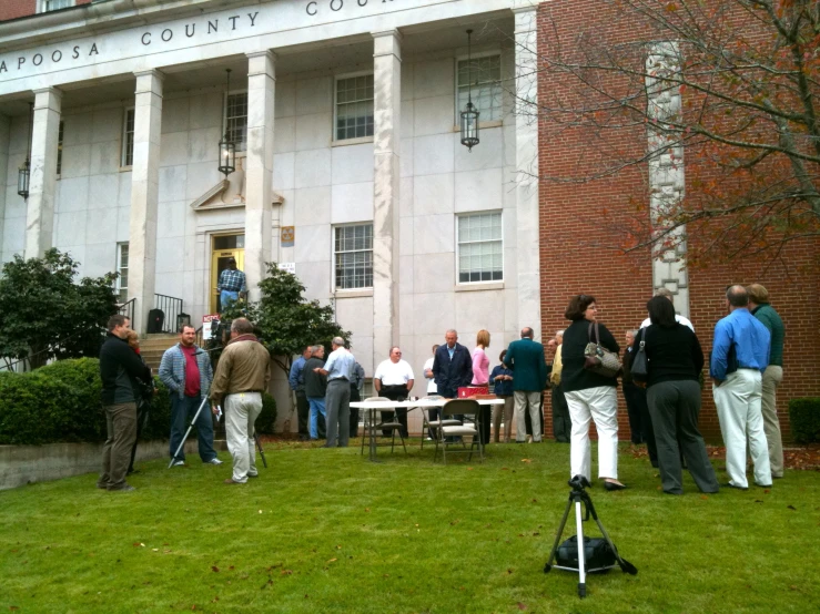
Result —
<instances>
[{"instance_id":1,"label":"fourth white column from the left, between two windows","mask_svg":"<svg viewBox=\"0 0 820 614\"><path fill-rule=\"evenodd\" d=\"M373 34L373 348L398 344L398 180L402 35Z\"/></svg>"}]
</instances>

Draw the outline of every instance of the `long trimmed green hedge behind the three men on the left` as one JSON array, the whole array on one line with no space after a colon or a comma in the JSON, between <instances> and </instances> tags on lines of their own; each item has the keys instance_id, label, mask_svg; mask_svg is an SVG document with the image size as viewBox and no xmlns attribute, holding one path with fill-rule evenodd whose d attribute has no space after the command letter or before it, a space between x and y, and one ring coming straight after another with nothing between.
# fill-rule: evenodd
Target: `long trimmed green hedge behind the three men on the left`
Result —
<instances>
[{"instance_id":1,"label":"long trimmed green hedge behind the three men on the left","mask_svg":"<svg viewBox=\"0 0 820 614\"><path fill-rule=\"evenodd\" d=\"M159 378L154 383L143 440L168 439L171 428L169 390ZM104 441L101 391L97 358L59 360L28 373L0 371L0 444ZM262 399L256 429L273 434L276 401L267 392Z\"/></svg>"}]
</instances>

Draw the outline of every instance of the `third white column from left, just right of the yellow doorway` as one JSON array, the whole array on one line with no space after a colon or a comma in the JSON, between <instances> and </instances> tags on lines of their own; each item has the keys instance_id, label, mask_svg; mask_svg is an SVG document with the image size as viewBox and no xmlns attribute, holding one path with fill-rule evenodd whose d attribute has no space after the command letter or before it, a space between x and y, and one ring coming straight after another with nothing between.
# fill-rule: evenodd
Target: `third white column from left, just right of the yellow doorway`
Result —
<instances>
[{"instance_id":1,"label":"third white column from left, just right of the yellow doorway","mask_svg":"<svg viewBox=\"0 0 820 614\"><path fill-rule=\"evenodd\" d=\"M276 55L247 54L247 157L245 170L245 276L252 300L271 260L273 96Z\"/></svg>"}]
</instances>

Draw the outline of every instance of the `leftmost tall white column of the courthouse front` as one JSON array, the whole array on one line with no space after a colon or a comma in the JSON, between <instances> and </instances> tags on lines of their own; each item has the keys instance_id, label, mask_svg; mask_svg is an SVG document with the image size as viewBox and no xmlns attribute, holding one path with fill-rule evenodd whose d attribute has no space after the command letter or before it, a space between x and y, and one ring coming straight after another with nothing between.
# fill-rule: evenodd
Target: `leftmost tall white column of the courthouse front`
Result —
<instances>
[{"instance_id":1,"label":"leftmost tall white column of the courthouse front","mask_svg":"<svg viewBox=\"0 0 820 614\"><path fill-rule=\"evenodd\" d=\"M31 135L31 175L26 214L26 257L42 256L52 246L57 144L60 137L62 92L34 91L34 127Z\"/></svg>"}]
</instances>

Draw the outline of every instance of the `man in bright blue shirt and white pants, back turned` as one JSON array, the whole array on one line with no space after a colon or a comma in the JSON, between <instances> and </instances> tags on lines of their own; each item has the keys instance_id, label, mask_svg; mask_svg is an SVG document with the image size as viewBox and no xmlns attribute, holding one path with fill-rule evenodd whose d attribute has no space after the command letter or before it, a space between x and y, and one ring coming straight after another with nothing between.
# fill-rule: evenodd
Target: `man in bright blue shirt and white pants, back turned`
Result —
<instances>
[{"instance_id":1,"label":"man in bright blue shirt and white pants, back turned","mask_svg":"<svg viewBox=\"0 0 820 614\"><path fill-rule=\"evenodd\" d=\"M743 286L726 290L729 315L715 326L710 375L720 431L726 443L729 487L748 489L746 442L755 463L755 483L771 487L769 447L761 409L762 372L769 365L769 330L749 311Z\"/></svg>"}]
</instances>

